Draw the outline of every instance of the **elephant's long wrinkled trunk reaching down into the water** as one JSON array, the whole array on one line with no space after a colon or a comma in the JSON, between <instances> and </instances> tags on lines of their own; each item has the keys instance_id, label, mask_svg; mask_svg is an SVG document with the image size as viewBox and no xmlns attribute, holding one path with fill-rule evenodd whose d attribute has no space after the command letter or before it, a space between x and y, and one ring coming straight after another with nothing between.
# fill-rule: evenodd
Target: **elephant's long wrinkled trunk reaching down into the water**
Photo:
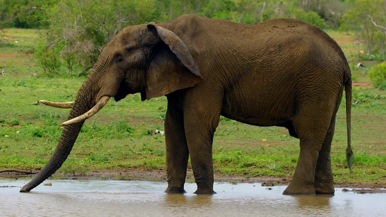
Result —
<instances>
[{"instance_id":1,"label":"elephant's long wrinkled trunk reaching down into the water","mask_svg":"<svg viewBox=\"0 0 386 217\"><path fill-rule=\"evenodd\" d=\"M68 120L85 113L93 106L93 104L95 104L94 95L97 91L93 90L95 89L95 85L92 83L93 82L90 78L87 78L83 83L82 87L78 91L73 108L68 115ZM20 189L20 192L29 192L32 188L38 186L62 166L63 162L67 159L76 138L78 137L83 123L84 120L64 127L58 146L56 146L51 159L49 159L48 163L41 171L39 171L34 179Z\"/></svg>"}]
</instances>

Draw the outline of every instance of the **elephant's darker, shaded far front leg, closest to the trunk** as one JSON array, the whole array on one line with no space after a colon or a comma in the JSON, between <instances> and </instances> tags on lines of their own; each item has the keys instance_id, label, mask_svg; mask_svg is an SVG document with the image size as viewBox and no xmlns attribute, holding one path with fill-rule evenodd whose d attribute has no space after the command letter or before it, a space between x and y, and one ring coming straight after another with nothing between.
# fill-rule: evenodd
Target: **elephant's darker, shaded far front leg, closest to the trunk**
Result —
<instances>
[{"instance_id":1,"label":"elephant's darker, shaded far front leg, closest to the trunk","mask_svg":"<svg viewBox=\"0 0 386 217\"><path fill-rule=\"evenodd\" d=\"M166 171L168 188L166 193L186 193L184 190L189 151L186 144L182 111L168 103L165 117Z\"/></svg>"}]
</instances>

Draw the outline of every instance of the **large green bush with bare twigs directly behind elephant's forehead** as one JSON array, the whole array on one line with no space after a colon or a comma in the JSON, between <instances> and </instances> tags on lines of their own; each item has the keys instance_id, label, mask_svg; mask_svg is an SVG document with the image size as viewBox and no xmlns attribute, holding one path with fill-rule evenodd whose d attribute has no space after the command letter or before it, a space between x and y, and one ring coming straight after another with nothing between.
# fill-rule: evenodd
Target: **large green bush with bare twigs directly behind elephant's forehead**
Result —
<instances>
[{"instance_id":1,"label":"large green bush with bare twigs directly behind elephant's forehead","mask_svg":"<svg viewBox=\"0 0 386 217\"><path fill-rule=\"evenodd\" d=\"M121 29L151 20L155 2L61 0L49 5L50 25L37 42L37 61L49 75L91 67Z\"/></svg>"}]
</instances>

